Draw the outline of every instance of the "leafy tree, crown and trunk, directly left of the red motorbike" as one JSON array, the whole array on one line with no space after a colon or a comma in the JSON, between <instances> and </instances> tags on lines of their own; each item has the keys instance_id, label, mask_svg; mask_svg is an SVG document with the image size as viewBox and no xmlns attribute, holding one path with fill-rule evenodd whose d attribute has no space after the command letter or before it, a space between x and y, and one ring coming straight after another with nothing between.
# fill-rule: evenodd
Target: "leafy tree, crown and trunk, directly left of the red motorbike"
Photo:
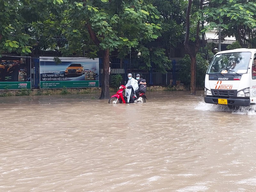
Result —
<instances>
[{"instance_id":1,"label":"leafy tree, crown and trunk, directly left of the red motorbike","mask_svg":"<svg viewBox=\"0 0 256 192\"><path fill-rule=\"evenodd\" d=\"M103 56L103 76L100 99L109 97L109 54L115 49L137 47L140 41L152 41L160 36L159 12L142 0L83 0L69 4L65 33L70 40L91 41ZM72 18L72 19L71 19ZM69 39L70 37L70 39ZM93 43L93 44L92 44ZM79 44L70 41L75 49ZM85 44L86 45L86 44ZM81 47L81 46L80 46Z\"/></svg>"}]
</instances>

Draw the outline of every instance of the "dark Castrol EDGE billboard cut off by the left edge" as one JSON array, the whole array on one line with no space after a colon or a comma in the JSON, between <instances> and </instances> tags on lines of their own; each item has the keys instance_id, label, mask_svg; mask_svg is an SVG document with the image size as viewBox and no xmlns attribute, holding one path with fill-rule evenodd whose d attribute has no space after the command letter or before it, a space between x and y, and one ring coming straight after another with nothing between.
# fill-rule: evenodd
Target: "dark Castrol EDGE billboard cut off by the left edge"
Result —
<instances>
[{"instance_id":1,"label":"dark Castrol EDGE billboard cut off by the left edge","mask_svg":"<svg viewBox=\"0 0 256 192\"><path fill-rule=\"evenodd\" d=\"M1 58L0 89L31 89L31 57Z\"/></svg>"}]
</instances>

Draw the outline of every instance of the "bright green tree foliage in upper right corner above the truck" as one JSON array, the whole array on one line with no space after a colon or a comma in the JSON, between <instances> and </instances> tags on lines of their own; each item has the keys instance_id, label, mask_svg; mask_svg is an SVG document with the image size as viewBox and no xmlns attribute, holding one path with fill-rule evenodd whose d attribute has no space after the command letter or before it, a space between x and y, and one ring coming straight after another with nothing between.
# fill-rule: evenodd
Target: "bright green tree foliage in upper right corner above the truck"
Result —
<instances>
[{"instance_id":1,"label":"bright green tree foliage in upper right corner above the truck","mask_svg":"<svg viewBox=\"0 0 256 192\"><path fill-rule=\"evenodd\" d=\"M204 30L221 28L221 37L235 36L241 47L256 46L256 4L253 0L211 0L201 12L208 25Z\"/></svg>"}]
</instances>

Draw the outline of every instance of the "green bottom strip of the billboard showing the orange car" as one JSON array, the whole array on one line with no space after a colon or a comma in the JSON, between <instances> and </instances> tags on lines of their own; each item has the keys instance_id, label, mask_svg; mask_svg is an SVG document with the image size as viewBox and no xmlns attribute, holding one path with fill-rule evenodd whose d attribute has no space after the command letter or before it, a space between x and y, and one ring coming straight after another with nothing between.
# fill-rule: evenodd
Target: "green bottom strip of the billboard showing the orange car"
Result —
<instances>
[{"instance_id":1,"label":"green bottom strip of the billboard showing the orange car","mask_svg":"<svg viewBox=\"0 0 256 192\"><path fill-rule=\"evenodd\" d=\"M99 87L99 81L41 81L40 88Z\"/></svg>"}]
</instances>

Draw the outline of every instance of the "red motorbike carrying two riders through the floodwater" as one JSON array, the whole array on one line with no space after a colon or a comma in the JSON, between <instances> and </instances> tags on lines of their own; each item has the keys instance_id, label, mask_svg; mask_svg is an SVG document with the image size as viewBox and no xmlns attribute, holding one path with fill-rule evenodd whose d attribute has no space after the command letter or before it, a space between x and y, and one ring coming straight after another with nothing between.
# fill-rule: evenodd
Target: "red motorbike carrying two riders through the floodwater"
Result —
<instances>
[{"instance_id":1,"label":"red motorbike carrying two riders through the floodwater","mask_svg":"<svg viewBox=\"0 0 256 192\"><path fill-rule=\"evenodd\" d=\"M127 97L123 94L125 85L121 85L119 87L119 90L116 92L116 94L112 95L110 97L110 99L108 100L108 103L112 103L112 104L118 104L118 103L128 103L127 102ZM135 96L133 96L134 100L136 99ZM145 103L147 99L147 96L145 95L145 93L140 93L140 97L138 100L136 100L135 102L137 103ZM129 102L131 103L131 101Z\"/></svg>"}]
</instances>

